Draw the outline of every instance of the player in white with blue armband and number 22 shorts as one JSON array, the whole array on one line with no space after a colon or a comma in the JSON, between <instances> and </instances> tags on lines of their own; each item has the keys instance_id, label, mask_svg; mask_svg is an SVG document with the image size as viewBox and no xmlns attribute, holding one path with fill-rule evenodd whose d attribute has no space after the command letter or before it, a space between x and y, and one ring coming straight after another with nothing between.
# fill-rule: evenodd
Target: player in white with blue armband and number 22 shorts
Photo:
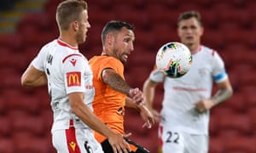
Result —
<instances>
[{"instance_id":1,"label":"player in white with blue armband and number 22 shorts","mask_svg":"<svg viewBox=\"0 0 256 153\"><path fill-rule=\"evenodd\" d=\"M207 153L209 110L232 95L224 61L212 48L201 44L203 26L198 12L180 14L177 33L192 54L192 65L183 77L165 77L157 70L144 82L143 93L155 119L160 120L159 138L163 153ZM154 111L154 91L164 85L160 114ZM212 94L212 82L218 92Z\"/></svg>"}]
</instances>

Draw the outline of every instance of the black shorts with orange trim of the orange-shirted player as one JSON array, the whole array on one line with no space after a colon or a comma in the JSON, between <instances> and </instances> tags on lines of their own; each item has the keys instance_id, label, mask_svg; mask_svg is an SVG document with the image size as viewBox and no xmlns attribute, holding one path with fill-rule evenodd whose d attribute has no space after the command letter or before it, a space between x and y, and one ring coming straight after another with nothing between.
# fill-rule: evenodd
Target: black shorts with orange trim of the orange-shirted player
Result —
<instances>
[{"instance_id":1,"label":"black shorts with orange trim of the orange-shirted player","mask_svg":"<svg viewBox=\"0 0 256 153\"><path fill-rule=\"evenodd\" d=\"M147 149L131 141L131 139L125 139L125 140L130 144L130 148L131 148L130 153L149 153ZM102 144L102 149L104 150L104 153L113 153L112 147L109 144L108 139L105 139L101 144Z\"/></svg>"}]
</instances>

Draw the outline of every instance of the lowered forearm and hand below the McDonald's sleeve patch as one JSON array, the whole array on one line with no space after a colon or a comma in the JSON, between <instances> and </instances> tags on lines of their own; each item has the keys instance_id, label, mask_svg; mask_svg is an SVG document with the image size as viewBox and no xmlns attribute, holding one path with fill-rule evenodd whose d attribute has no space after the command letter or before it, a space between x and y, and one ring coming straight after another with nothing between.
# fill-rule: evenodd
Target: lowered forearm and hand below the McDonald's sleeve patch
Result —
<instances>
[{"instance_id":1,"label":"lowered forearm and hand below the McDonald's sleeve patch","mask_svg":"<svg viewBox=\"0 0 256 153\"><path fill-rule=\"evenodd\" d=\"M122 150L124 150L125 153L128 153L127 150L131 150L129 144L126 143L121 134L114 133L108 126L97 118L87 105L84 105L83 93L68 94L68 99L73 113L79 116L79 118L90 128L106 136L109 143L112 145L114 152L118 151L118 153L122 153ZM127 136L129 135L124 135L124 137Z\"/></svg>"}]
</instances>

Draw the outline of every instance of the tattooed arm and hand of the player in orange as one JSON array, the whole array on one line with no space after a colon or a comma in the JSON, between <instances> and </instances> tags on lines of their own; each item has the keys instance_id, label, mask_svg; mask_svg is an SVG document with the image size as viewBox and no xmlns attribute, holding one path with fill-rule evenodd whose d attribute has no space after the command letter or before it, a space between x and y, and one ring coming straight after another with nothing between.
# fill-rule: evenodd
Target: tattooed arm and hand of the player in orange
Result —
<instances>
[{"instance_id":1,"label":"tattooed arm and hand of the player in orange","mask_svg":"<svg viewBox=\"0 0 256 153\"><path fill-rule=\"evenodd\" d=\"M114 90L131 97L134 103L143 103L143 92L138 88L131 88L113 69L106 68L102 71L102 81Z\"/></svg>"}]
</instances>

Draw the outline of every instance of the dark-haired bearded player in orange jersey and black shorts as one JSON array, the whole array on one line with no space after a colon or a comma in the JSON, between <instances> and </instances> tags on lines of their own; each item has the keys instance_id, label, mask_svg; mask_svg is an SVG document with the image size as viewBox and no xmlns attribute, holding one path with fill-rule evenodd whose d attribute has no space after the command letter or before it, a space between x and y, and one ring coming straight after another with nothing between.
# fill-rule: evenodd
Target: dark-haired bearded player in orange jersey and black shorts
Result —
<instances>
[{"instance_id":1,"label":"dark-haired bearded player in orange jersey and black shorts","mask_svg":"<svg viewBox=\"0 0 256 153\"><path fill-rule=\"evenodd\" d=\"M125 107L140 111L145 125L154 124L153 116L143 104L143 92L131 88L124 77L124 65L133 51L135 39L133 27L123 21L112 20L102 31L102 54L89 60L93 71L96 95L93 109L102 122L117 133L124 132ZM95 134L105 153L113 153L108 139L101 133ZM126 139L133 153L148 153L139 144Z\"/></svg>"}]
</instances>

